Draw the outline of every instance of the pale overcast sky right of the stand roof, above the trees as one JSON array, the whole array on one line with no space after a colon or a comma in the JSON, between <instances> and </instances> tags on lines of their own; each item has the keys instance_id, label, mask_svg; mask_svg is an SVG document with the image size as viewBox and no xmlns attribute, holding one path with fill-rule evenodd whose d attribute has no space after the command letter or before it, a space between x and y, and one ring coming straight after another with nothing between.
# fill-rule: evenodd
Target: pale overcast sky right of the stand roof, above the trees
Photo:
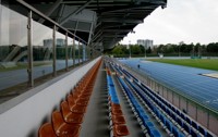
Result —
<instances>
[{"instance_id":1,"label":"pale overcast sky right of the stand roof, above the trees","mask_svg":"<svg viewBox=\"0 0 218 137\"><path fill-rule=\"evenodd\" d=\"M153 39L154 45L218 42L218 0L168 0L166 9L156 9L133 30L121 43L137 39Z\"/></svg>"}]
</instances>

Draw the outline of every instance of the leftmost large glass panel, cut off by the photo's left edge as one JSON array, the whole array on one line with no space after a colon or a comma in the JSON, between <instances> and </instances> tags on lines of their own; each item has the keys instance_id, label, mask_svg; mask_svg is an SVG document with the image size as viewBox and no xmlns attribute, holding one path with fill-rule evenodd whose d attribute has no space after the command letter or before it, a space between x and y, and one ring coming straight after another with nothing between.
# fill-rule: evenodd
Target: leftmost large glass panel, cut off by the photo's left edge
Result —
<instances>
[{"instance_id":1,"label":"leftmost large glass panel, cut off by the photo's left edge","mask_svg":"<svg viewBox=\"0 0 218 137\"><path fill-rule=\"evenodd\" d=\"M27 82L27 17L0 4L0 90ZM8 98L10 91L0 95ZM11 97L16 95L10 94Z\"/></svg>"}]
</instances>

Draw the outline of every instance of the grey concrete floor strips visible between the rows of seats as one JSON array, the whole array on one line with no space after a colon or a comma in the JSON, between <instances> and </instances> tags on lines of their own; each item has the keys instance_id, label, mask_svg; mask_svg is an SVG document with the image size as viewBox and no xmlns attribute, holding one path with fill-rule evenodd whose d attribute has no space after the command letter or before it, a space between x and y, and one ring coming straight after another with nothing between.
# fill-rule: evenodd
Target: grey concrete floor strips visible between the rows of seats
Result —
<instances>
[{"instance_id":1,"label":"grey concrete floor strips visible between the rows of seats","mask_svg":"<svg viewBox=\"0 0 218 137\"><path fill-rule=\"evenodd\" d=\"M130 135L126 137L145 137L145 134L143 133L136 117L134 116L128 99L125 98L122 88L120 87L119 82L116 78L116 75L112 75L112 79L123 115L126 121L126 126L130 132ZM141 105L143 105L142 101L138 100L138 102L141 103ZM153 117L153 115L146 110L146 108L143 108L145 109L145 112L147 112L148 115ZM80 137L109 137L110 129L108 115L109 112L106 71L104 64L101 64L97 74L97 79L95 82L94 91L90 97L87 111L85 113L84 122L82 124ZM166 132L158 124L158 122L155 121L154 117L152 120L156 127L160 129L162 136L167 136Z\"/></svg>"}]
</instances>

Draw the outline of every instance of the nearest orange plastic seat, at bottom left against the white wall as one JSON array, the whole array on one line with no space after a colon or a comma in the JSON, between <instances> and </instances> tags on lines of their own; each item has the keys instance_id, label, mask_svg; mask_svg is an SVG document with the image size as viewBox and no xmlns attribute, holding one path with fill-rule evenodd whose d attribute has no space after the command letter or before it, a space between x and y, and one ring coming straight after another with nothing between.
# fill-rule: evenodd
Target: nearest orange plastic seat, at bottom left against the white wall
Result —
<instances>
[{"instance_id":1,"label":"nearest orange plastic seat, at bottom left against the white wall","mask_svg":"<svg viewBox=\"0 0 218 137\"><path fill-rule=\"evenodd\" d=\"M53 127L50 123L40 126L38 137L57 137Z\"/></svg>"}]
</instances>

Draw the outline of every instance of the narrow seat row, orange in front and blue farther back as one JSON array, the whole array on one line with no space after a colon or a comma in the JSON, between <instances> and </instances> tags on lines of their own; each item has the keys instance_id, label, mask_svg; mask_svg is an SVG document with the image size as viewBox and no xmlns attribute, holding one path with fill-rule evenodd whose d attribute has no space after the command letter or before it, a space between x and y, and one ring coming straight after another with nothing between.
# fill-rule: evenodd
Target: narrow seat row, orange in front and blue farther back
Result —
<instances>
[{"instance_id":1,"label":"narrow seat row, orange in front and blue farther back","mask_svg":"<svg viewBox=\"0 0 218 137\"><path fill-rule=\"evenodd\" d=\"M122 113L122 109L119 102L119 98L116 94L116 88L110 76L110 71L107 70L107 86L108 86L108 100L109 100L109 117L111 127L111 137L128 136L129 129L125 125L125 119Z\"/></svg>"}]
</instances>

